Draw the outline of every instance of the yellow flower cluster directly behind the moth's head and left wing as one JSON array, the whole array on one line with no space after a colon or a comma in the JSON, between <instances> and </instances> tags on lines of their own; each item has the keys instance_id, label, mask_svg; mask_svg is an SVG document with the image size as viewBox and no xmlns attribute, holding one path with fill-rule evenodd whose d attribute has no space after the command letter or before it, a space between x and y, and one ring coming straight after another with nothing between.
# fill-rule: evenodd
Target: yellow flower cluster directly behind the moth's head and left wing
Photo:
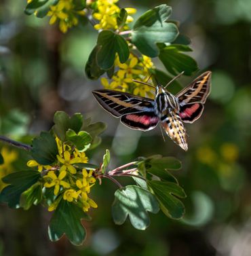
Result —
<instances>
[{"instance_id":1,"label":"yellow flower cluster directly behind the moth's head and left wing","mask_svg":"<svg viewBox=\"0 0 251 256\"><path fill-rule=\"evenodd\" d=\"M149 79L151 76L150 69L154 69L151 58L144 55L139 58L138 56L130 54L127 62L123 64L119 62L119 58L116 58L115 69L116 67L118 67L119 70L116 71L111 78L111 83L109 83L107 78L101 78L101 83L104 88L130 92L132 94L147 96L149 98L154 97L153 89L150 86L145 86L132 81L132 79L135 79L146 82ZM151 83L151 81L149 81L149 83Z\"/></svg>"}]
</instances>

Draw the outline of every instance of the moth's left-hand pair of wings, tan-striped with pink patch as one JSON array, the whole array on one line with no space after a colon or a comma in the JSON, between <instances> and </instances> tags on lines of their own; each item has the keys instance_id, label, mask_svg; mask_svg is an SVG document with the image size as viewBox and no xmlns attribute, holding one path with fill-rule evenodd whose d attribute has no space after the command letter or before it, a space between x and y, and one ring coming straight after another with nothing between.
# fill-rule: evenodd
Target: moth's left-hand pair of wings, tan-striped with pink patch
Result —
<instances>
[{"instance_id":1,"label":"moth's left-hand pair of wings, tan-striped with pink patch","mask_svg":"<svg viewBox=\"0 0 251 256\"><path fill-rule=\"evenodd\" d=\"M122 124L132 129L151 130L159 122L159 117L154 112L154 100L151 98L105 89L92 93L105 110L115 117L121 117Z\"/></svg>"}]
</instances>

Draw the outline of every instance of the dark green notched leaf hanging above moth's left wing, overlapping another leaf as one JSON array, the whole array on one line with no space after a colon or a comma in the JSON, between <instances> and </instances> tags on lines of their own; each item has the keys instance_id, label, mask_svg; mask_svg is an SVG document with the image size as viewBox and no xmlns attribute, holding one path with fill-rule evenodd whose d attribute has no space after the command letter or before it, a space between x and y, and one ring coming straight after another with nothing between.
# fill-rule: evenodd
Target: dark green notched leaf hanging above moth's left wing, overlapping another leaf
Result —
<instances>
[{"instance_id":1,"label":"dark green notched leaf hanging above moth's left wing, overlapping another leaf","mask_svg":"<svg viewBox=\"0 0 251 256\"><path fill-rule=\"evenodd\" d=\"M117 35L113 31L101 31L98 35L97 45L100 48L96 58L101 69L108 70L113 67L116 53L121 63L126 62L129 58L128 43L121 35Z\"/></svg>"}]
</instances>

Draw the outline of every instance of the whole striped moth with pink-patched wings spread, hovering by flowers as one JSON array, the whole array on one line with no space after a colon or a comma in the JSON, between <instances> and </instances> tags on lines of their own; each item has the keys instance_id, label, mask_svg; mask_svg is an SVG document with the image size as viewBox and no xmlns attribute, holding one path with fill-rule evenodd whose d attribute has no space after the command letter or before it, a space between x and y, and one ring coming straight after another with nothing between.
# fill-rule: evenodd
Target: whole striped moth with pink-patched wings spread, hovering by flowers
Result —
<instances>
[{"instance_id":1,"label":"whole striped moth with pink-patched wings spread, hovering by flowers","mask_svg":"<svg viewBox=\"0 0 251 256\"><path fill-rule=\"evenodd\" d=\"M98 103L126 126L147 131L159 121L170 139L187 151L187 134L182 122L193 123L204 110L210 94L211 71L197 77L176 96L163 86L156 87L155 100L114 90L94 90Z\"/></svg>"}]
</instances>

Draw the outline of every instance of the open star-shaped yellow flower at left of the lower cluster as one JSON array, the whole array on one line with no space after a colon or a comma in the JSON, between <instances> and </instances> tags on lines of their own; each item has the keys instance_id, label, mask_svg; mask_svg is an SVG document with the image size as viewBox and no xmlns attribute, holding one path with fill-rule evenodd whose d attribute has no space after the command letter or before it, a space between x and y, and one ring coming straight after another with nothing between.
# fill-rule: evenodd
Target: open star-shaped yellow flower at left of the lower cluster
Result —
<instances>
[{"instance_id":1,"label":"open star-shaped yellow flower at left of the lower cluster","mask_svg":"<svg viewBox=\"0 0 251 256\"><path fill-rule=\"evenodd\" d=\"M53 171L50 171L50 172L48 172L47 175L45 175L45 177L43 177L45 180L47 180L47 182L45 182L44 186L45 187L54 187L55 186L54 195L56 196L59 192L60 185L64 188L70 187L69 183L67 183L66 181L62 181L62 179L64 179L65 176L66 176L66 171L60 172L58 177L55 175L55 173Z\"/></svg>"}]
</instances>

